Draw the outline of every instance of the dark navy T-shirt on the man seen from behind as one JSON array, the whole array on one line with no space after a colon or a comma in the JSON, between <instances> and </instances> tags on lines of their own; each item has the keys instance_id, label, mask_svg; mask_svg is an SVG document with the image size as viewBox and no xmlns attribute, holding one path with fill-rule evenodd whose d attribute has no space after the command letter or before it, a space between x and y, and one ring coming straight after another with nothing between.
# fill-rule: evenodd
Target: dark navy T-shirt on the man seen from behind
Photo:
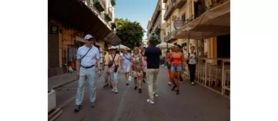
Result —
<instances>
[{"instance_id":1,"label":"dark navy T-shirt on the man seen from behind","mask_svg":"<svg viewBox=\"0 0 278 121\"><path fill-rule=\"evenodd\" d=\"M148 46L145 49L144 56L147 57L147 68L158 69L160 65L160 56L162 55L160 48Z\"/></svg>"}]
</instances>

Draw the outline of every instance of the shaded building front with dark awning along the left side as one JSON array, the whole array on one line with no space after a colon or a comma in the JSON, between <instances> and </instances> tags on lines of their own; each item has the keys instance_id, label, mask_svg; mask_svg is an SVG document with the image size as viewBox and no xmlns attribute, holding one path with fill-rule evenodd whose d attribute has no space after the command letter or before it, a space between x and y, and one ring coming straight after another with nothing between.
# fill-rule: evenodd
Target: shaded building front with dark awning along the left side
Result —
<instances>
[{"instance_id":1,"label":"shaded building front with dark awning along the left side","mask_svg":"<svg viewBox=\"0 0 278 121\"><path fill-rule=\"evenodd\" d=\"M120 43L114 6L115 0L48 1L48 77L63 74L65 65L76 60L86 34L94 36L101 48Z\"/></svg>"}]
</instances>

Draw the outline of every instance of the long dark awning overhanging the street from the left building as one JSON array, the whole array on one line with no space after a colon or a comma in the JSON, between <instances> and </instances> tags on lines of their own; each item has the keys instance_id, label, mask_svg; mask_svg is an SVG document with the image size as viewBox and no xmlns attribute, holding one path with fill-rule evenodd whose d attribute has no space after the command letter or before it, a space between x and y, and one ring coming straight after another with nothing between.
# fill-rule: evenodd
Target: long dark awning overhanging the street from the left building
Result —
<instances>
[{"instance_id":1,"label":"long dark awning overhanging the street from the left building","mask_svg":"<svg viewBox=\"0 0 278 121\"><path fill-rule=\"evenodd\" d=\"M111 33L108 26L83 1L48 0L48 17L61 21L78 31L91 34L101 41ZM115 33L113 34L115 36ZM116 46L120 43L120 38L114 37L113 40L107 39L105 42Z\"/></svg>"}]
</instances>

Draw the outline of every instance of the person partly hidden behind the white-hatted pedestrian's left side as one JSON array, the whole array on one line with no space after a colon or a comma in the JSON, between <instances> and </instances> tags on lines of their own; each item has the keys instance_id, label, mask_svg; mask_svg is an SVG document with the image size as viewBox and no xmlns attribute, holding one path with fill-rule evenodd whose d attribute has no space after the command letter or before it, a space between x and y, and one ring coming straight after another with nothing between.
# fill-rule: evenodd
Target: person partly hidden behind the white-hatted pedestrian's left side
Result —
<instances>
[{"instance_id":1,"label":"person partly hidden behind the white-hatted pedestrian's left side","mask_svg":"<svg viewBox=\"0 0 278 121\"><path fill-rule=\"evenodd\" d=\"M103 86L103 88L106 88L108 86L110 86L110 88L113 88L111 81L110 81L110 73L109 73L109 68L108 68L108 63L109 63L109 55L111 54L110 49L108 49L108 51L106 52L105 56L104 56L104 73L105 73L105 85Z\"/></svg>"}]
</instances>

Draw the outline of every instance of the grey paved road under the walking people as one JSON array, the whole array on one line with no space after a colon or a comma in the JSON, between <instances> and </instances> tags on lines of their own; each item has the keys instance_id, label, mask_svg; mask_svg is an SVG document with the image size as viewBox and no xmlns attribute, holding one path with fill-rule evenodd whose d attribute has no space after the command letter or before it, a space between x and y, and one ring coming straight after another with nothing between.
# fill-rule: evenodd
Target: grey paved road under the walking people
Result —
<instances>
[{"instance_id":1,"label":"grey paved road under the walking people","mask_svg":"<svg viewBox=\"0 0 278 121\"><path fill-rule=\"evenodd\" d=\"M202 87L182 83L180 95L167 85L167 71L160 68L158 75L158 98L155 105L146 102L148 88L143 84L143 93L134 90L134 84L125 85L124 75L119 75L119 93L103 89L103 81L98 83L96 107L90 107L88 88L83 98L83 108L73 112L74 102L62 108L63 115L57 121L228 121L230 120L230 100ZM103 76L101 78L103 80ZM77 86L77 85L76 85ZM76 90L72 95L76 95Z\"/></svg>"}]
</instances>

